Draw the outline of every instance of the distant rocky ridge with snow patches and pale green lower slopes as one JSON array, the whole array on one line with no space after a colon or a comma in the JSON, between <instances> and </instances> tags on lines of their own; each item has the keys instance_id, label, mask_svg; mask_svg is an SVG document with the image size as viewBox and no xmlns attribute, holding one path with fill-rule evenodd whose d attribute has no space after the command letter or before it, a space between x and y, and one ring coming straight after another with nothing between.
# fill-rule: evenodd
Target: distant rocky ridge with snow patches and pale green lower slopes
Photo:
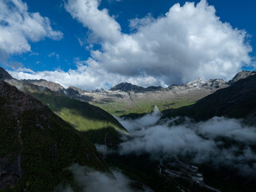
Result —
<instances>
[{"instance_id":1,"label":"distant rocky ridge with snow patches and pale green lower slopes","mask_svg":"<svg viewBox=\"0 0 256 192\"><path fill-rule=\"evenodd\" d=\"M255 74L255 71L241 71L229 82L222 79L203 81L198 78L181 86L171 85L167 88L161 86L142 87L128 82L122 82L110 90L94 90L89 92L77 87L63 86L46 80L22 80L37 86L46 87L54 92L76 98L90 104L99 106L110 114L121 116L123 114L144 114L158 106L159 110L175 109L181 106L193 105L199 99L231 86L243 78Z\"/></svg>"}]
</instances>

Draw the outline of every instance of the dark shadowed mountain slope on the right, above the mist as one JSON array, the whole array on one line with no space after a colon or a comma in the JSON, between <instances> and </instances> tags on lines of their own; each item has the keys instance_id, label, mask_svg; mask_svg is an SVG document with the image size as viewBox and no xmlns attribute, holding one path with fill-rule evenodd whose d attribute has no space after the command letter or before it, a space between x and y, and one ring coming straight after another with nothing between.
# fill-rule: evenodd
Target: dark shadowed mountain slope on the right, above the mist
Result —
<instances>
[{"instance_id":1,"label":"dark shadowed mountain slope on the right, above the mist","mask_svg":"<svg viewBox=\"0 0 256 192\"><path fill-rule=\"evenodd\" d=\"M238 79L236 75L229 87L202 98L194 106L166 110L165 116L186 115L197 120L226 116L245 118L250 124L256 123L256 74L245 71L242 73L242 78Z\"/></svg>"}]
</instances>

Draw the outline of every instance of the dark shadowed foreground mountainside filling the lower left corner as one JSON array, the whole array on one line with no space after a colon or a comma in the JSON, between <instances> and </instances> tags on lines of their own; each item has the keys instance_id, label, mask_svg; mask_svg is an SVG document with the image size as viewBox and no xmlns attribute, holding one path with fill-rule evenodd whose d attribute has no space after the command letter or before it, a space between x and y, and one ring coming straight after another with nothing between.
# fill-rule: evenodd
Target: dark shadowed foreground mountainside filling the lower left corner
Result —
<instances>
[{"instance_id":1,"label":"dark shadowed foreground mountainside filling the lower left corner","mask_svg":"<svg viewBox=\"0 0 256 192\"><path fill-rule=\"evenodd\" d=\"M109 171L83 134L0 80L0 191L51 191L73 183L72 163Z\"/></svg>"}]
</instances>

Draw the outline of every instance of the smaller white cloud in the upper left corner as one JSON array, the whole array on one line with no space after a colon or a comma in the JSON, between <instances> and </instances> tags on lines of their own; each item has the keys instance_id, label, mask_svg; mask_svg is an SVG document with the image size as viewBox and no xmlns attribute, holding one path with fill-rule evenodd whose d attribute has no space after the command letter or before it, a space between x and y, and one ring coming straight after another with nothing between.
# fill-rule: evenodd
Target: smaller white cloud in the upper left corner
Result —
<instances>
[{"instance_id":1,"label":"smaller white cloud in the upper left corner","mask_svg":"<svg viewBox=\"0 0 256 192\"><path fill-rule=\"evenodd\" d=\"M62 32L51 28L49 18L28 12L25 2L0 0L0 51L22 54L43 38L58 40Z\"/></svg>"}]
</instances>

